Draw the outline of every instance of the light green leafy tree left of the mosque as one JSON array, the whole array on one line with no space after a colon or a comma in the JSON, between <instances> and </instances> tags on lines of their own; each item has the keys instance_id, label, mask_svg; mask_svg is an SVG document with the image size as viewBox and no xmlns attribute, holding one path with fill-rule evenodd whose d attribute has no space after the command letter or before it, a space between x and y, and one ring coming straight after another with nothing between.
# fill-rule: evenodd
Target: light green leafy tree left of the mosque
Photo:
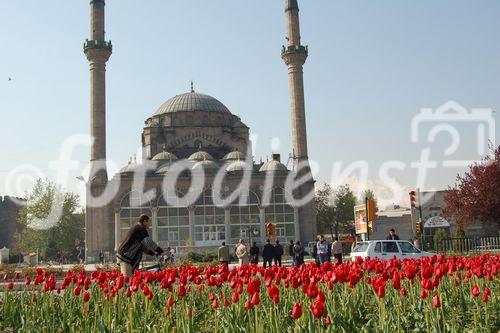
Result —
<instances>
[{"instance_id":1,"label":"light green leafy tree left of the mosque","mask_svg":"<svg viewBox=\"0 0 500 333\"><path fill-rule=\"evenodd\" d=\"M20 211L21 228L14 236L13 252L27 254L38 249L42 257L50 259L71 253L85 236L85 216L78 209L78 195L64 192L48 180L37 180Z\"/></svg>"}]
</instances>

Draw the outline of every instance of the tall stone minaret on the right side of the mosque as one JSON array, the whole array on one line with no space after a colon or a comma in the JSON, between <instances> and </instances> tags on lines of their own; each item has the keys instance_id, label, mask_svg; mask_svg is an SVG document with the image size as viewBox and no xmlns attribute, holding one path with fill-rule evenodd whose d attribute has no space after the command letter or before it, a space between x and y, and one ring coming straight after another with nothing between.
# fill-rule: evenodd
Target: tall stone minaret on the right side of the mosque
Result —
<instances>
[{"instance_id":1,"label":"tall stone minaret on the right side of the mosque","mask_svg":"<svg viewBox=\"0 0 500 333\"><path fill-rule=\"evenodd\" d=\"M300 44L299 6L297 0L285 0L288 45L283 46L281 58L288 66L290 81L290 111L292 118L292 147L294 168L307 156L306 114L304 105L304 76L302 66L307 59L307 46Z\"/></svg>"}]
</instances>

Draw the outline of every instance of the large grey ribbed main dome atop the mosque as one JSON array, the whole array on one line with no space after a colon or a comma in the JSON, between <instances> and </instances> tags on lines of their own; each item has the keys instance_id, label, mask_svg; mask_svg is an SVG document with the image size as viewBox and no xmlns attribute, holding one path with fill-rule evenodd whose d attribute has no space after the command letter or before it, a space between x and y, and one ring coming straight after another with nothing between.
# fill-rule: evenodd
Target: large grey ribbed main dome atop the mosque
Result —
<instances>
[{"instance_id":1,"label":"large grey ribbed main dome atop the mosque","mask_svg":"<svg viewBox=\"0 0 500 333\"><path fill-rule=\"evenodd\" d=\"M212 96L194 91L172 97L156 111L156 115L169 112L210 111L229 113L229 109Z\"/></svg>"}]
</instances>

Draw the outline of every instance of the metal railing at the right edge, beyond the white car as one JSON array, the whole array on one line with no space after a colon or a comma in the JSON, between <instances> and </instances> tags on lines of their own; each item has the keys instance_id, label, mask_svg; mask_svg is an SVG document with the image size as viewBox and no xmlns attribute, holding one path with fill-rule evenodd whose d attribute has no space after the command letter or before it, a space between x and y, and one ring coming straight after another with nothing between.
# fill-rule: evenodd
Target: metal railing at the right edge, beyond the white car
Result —
<instances>
[{"instance_id":1,"label":"metal railing at the right edge, beyond the white car","mask_svg":"<svg viewBox=\"0 0 500 333\"><path fill-rule=\"evenodd\" d=\"M500 237L444 238L435 245L443 253L500 253Z\"/></svg>"}]
</instances>

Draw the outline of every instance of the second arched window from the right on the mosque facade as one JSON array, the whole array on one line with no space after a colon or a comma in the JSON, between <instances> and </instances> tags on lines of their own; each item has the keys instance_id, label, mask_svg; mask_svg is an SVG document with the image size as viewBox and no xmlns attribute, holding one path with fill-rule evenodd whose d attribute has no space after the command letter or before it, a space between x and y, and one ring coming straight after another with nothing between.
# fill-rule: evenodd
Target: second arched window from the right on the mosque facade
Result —
<instances>
[{"instance_id":1,"label":"second arched window from the right on the mosque facade","mask_svg":"<svg viewBox=\"0 0 500 333\"><path fill-rule=\"evenodd\" d=\"M238 240L258 240L260 238L259 198L254 192L242 193L230 210L231 244Z\"/></svg>"}]
</instances>

